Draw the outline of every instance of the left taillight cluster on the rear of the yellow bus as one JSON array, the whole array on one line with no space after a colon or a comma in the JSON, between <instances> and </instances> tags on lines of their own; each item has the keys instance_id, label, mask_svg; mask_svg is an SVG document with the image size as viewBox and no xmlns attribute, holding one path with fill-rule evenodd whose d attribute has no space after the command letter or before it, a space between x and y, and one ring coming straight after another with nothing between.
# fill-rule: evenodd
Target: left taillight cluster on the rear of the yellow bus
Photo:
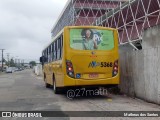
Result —
<instances>
[{"instance_id":1,"label":"left taillight cluster on the rear of the yellow bus","mask_svg":"<svg viewBox=\"0 0 160 120\"><path fill-rule=\"evenodd\" d=\"M74 78L74 70L71 61L69 60L66 61L66 68L67 68L67 75L71 78Z\"/></svg>"}]
</instances>

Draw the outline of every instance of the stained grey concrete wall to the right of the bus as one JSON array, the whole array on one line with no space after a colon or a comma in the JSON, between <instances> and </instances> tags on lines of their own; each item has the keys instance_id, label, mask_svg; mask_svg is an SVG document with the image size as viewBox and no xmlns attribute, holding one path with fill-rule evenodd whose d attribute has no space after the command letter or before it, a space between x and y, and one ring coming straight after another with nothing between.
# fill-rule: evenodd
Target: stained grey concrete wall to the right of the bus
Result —
<instances>
[{"instance_id":1,"label":"stained grey concrete wall to the right of the bus","mask_svg":"<svg viewBox=\"0 0 160 120\"><path fill-rule=\"evenodd\" d=\"M121 91L160 104L160 26L143 33L143 50L120 49Z\"/></svg>"}]
</instances>

